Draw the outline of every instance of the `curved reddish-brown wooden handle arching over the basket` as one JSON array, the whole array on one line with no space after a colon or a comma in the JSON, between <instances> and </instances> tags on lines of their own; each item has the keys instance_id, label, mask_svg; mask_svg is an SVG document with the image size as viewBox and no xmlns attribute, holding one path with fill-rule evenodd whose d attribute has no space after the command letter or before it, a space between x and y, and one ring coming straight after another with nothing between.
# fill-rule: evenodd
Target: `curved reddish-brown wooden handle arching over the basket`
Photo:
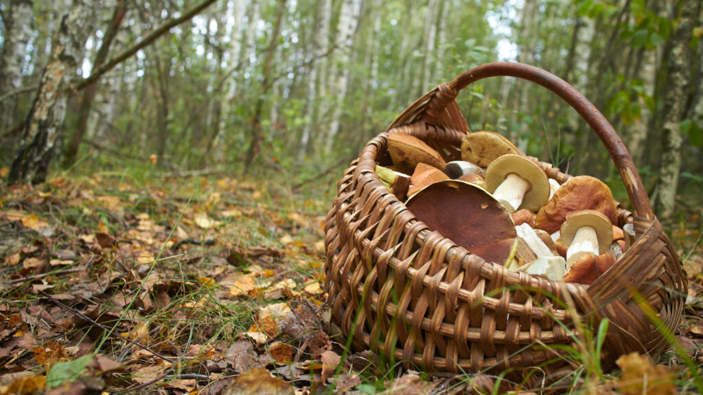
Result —
<instances>
[{"instance_id":1,"label":"curved reddish-brown wooden handle arching over the basket","mask_svg":"<svg viewBox=\"0 0 703 395\"><path fill-rule=\"evenodd\" d=\"M453 79L449 84L441 84L437 89L434 98L427 103L423 118L430 124L436 124L439 115L444 111L446 105L456 98L458 92L469 84L488 77L515 77L527 79L528 81L540 84L546 89L553 91L562 100L567 102L583 120L591 126L591 129L598 135L600 141L607 148L610 157L618 168L622 181L625 183L628 197L633 205L633 211L637 216L653 220L654 212L650 205L649 197L640 179L640 174L632 161L625 144L613 129L610 122L595 108L595 105L581 94L574 86L568 82L542 70L539 67L524 65L513 62L488 63L463 72Z\"/></svg>"}]
</instances>

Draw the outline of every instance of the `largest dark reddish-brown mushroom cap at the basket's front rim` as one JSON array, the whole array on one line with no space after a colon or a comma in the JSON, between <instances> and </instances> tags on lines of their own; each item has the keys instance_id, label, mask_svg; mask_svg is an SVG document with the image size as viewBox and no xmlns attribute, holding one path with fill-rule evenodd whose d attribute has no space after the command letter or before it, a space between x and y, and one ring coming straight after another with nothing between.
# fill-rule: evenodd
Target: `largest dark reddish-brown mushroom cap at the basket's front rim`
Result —
<instances>
[{"instance_id":1,"label":"largest dark reddish-brown mushroom cap at the basket's front rim","mask_svg":"<svg viewBox=\"0 0 703 395\"><path fill-rule=\"evenodd\" d=\"M417 219L486 261L505 264L517 233L510 214L486 190L470 183L433 183L406 203Z\"/></svg>"}]
</instances>

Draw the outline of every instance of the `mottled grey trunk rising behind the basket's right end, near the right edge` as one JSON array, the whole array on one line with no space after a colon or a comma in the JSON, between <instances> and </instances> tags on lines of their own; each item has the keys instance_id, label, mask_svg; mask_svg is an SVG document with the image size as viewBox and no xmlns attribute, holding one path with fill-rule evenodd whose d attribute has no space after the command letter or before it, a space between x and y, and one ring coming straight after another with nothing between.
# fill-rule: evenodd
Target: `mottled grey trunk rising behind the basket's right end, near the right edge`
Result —
<instances>
[{"instance_id":1,"label":"mottled grey trunk rising behind the basket's right end, near the right edge","mask_svg":"<svg viewBox=\"0 0 703 395\"><path fill-rule=\"evenodd\" d=\"M676 32L671 37L671 53L667 59L666 70L669 76L664 94L664 112L662 125L662 167L657 185L655 208L659 217L669 219L674 214L678 174L681 170L681 132L686 100L686 88L690 77L690 41L696 18L699 17L701 2L681 0L678 4L681 18Z\"/></svg>"}]
</instances>

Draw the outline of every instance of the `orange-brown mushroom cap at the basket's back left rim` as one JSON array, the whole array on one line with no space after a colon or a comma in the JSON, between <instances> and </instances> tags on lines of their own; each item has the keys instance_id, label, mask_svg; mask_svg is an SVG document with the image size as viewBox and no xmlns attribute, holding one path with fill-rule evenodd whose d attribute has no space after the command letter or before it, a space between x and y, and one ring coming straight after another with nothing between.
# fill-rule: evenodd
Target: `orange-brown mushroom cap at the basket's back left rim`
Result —
<instances>
[{"instance_id":1,"label":"orange-brown mushroom cap at the basket's back left rim","mask_svg":"<svg viewBox=\"0 0 703 395\"><path fill-rule=\"evenodd\" d=\"M444 170L444 159L430 145L415 136L404 133L394 133L388 136L388 152L393 164L408 174L418 163L423 162L437 169Z\"/></svg>"}]
</instances>

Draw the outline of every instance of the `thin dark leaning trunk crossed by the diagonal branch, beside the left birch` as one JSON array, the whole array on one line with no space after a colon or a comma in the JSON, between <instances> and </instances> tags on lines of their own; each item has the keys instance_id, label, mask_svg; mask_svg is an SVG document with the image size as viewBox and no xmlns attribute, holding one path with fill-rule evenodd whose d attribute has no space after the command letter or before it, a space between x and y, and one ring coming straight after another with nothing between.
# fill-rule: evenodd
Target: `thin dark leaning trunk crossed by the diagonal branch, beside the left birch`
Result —
<instances>
[{"instance_id":1,"label":"thin dark leaning trunk crossed by the diagonal branch, beside the left birch","mask_svg":"<svg viewBox=\"0 0 703 395\"><path fill-rule=\"evenodd\" d=\"M117 36L117 31L120 29L120 25L122 25L122 20L124 19L124 15L126 13L127 1L117 0L117 4L115 4L115 12L112 13L112 22L110 22L110 26L105 32L105 37L103 37L103 42L100 49L98 49L98 53L96 54L96 58L93 63L93 69L98 69L98 67L101 67L108 58L110 45L112 45L112 39L115 39L115 36ZM93 99L95 98L97 87L98 82L92 82L86 86L86 90L83 92L83 101L81 102L81 107L78 112L78 122L75 126L73 136L69 144L66 145L63 162L64 167L70 167L76 160L78 149L83 141L86 126L88 125L88 117L93 106Z\"/></svg>"}]
</instances>

